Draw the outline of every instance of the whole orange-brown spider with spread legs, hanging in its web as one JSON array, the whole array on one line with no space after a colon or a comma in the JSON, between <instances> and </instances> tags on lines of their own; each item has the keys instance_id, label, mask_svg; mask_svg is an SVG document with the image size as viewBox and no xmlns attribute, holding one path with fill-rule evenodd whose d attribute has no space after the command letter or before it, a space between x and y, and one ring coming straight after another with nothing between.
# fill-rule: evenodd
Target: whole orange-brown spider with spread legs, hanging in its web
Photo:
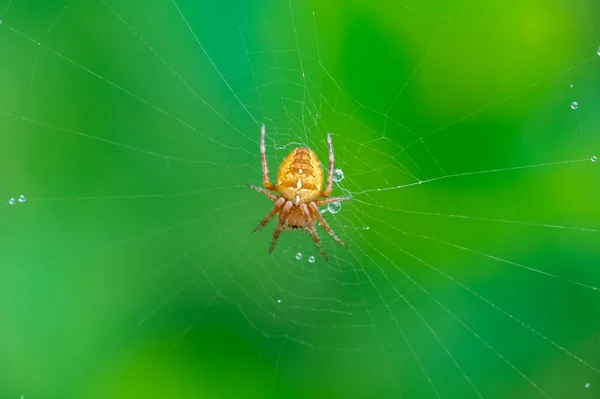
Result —
<instances>
[{"instance_id":1,"label":"whole orange-brown spider with spread legs, hanging in its web","mask_svg":"<svg viewBox=\"0 0 600 399\"><path fill-rule=\"evenodd\" d=\"M333 146L331 144L331 135L327 134L327 144L329 146L329 174L327 175L327 188L321 190L323 184L323 168L321 161L309 148L296 148L289 153L281 163L277 172L277 184L271 183L269 180L269 169L267 167L267 154L265 149L265 125L260 129L260 159L263 170L263 185L267 188L257 187L252 184L250 188L258 191L269 197L275 202L273 209L260 221L253 233L258 232L265 227L267 223L279 214L277 228L273 233L273 241L269 253L272 254L275 249L275 244L279 235L284 230L289 229L304 229L312 235L313 241L317 244L321 255L327 261L327 254L321 245L321 239L317 234L315 222L325 229L334 240L340 243L343 247L346 244L334 233L329 227L321 212L319 206L327 205L332 202L340 202L352 199L352 197L331 197L333 188ZM276 196L269 192L271 190L280 194ZM326 198L326 199L318 199Z\"/></svg>"}]
</instances>

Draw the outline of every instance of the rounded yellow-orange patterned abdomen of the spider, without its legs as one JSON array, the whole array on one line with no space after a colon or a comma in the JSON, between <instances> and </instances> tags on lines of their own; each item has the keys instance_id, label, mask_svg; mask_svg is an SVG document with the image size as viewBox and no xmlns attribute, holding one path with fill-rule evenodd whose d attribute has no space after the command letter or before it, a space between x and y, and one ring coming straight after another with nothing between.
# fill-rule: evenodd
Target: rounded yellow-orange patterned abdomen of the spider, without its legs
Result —
<instances>
[{"instance_id":1,"label":"rounded yellow-orange patterned abdomen of the spider, without its legs","mask_svg":"<svg viewBox=\"0 0 600 399\"><path fill-rule=\"evenodd\" d=\"M290 152L277 173L277 191L296 205L318 198L322 184L321 161L309 148Z\"/></svg>"}]
</instances>

